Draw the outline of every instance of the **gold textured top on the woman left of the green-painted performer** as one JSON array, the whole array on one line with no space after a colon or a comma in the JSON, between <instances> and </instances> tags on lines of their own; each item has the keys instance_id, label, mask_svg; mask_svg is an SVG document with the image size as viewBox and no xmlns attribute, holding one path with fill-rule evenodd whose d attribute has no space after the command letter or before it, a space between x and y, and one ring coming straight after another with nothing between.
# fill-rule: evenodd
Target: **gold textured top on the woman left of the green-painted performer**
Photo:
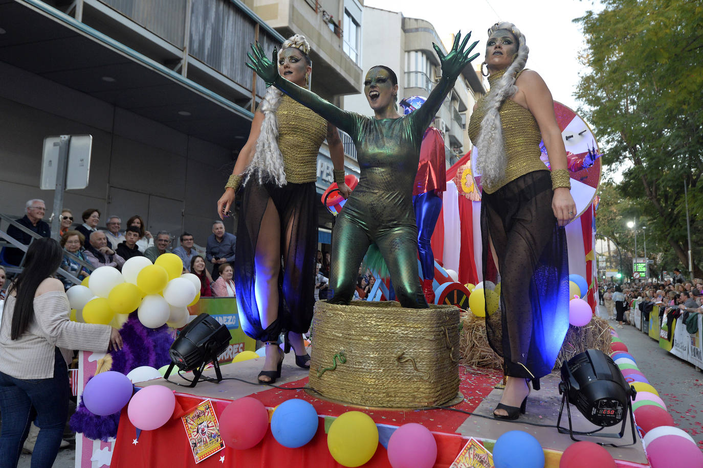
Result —
<instances>
[{"instance_id":1,"label":"gold textured top on the woman left of the green-painted performer","mask_svg":"<svg viewBox=\"0 0 703 468\"><path fill-rule=\"evenodd\" d=\"M327 136L327 121L285 94L276 118L285 180L294 184L315 182L317 154Z\"/></svg>"}]
</instances>

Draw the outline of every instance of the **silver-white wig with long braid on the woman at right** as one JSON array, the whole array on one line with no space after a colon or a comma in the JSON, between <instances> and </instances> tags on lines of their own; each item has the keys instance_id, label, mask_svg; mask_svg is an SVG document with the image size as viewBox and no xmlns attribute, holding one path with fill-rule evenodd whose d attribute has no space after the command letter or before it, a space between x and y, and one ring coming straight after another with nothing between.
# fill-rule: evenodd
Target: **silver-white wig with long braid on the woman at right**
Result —
<instances>
[{"instance_id":1,"label":"silver-white wig with long braid on the woman at right","mask_svg":"<svg viewBox=\"0 0 703 468\"><path fill-rule=\"evenodd\" d=\"M517 57L512 61L505 74L491 87L486 115L481 123L479 138L476 142L478 149L477 168L481 173L482 183L486 187L500 182L505 176L505 166L508 163L503 148L503 125L499 110L506 99L517 92L515 79L527 62L529 48L525 44L525 36L512 22L496 22L488 30L489 37L499 29L507 29L517 39Z\"/></svg>"}]
</instances>

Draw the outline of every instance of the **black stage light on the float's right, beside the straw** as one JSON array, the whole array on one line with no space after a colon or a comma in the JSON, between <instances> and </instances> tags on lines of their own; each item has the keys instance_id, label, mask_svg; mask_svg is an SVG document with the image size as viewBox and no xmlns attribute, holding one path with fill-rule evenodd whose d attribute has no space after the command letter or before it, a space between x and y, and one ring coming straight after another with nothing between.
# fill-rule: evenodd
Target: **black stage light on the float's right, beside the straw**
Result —
<instances>
[{"instance_id":1,"label":"black stage light on the float's right, beside the straw","mask_svg":"<svg viewBox=\"0 0 703 468\"><path fill-rule=\"evenodd\" d=\"M567 406L569 430L574 441L571 410L569 404L576 406L581 414L593 424L600 427L614 426L622 422L619 434L600 434L601 437L621 438L625 434L627 413L630 413L633 443L635 441L635 424L632 417L632 400L637 394L636 389L629 385L620 369L610 356L598 349L588 349L576 354L569 361L562 363L562 381L559 393L562 394L562 406L559 410L557 428L562 434L567 430L561 427L562 411ZM598 429L600 431L600 429ZM596 431L583 435L595 435Z\"/></svg>"}]
</instances>

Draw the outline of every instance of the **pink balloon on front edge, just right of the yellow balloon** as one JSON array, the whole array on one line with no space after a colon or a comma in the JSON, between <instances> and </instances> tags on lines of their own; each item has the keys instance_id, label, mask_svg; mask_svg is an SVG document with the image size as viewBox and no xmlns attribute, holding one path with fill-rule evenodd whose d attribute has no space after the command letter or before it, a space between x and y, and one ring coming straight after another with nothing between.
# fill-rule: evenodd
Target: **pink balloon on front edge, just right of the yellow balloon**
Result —
<instances>
[{"instance_id":1,"label":"pink balloon on front edge, just right of the yellow balloon","mask_svg":"<svg viewBox=\"0 0 703 468\"><path fill-rule=\"evenodd\" d=\"M388 440L388 461L393 468L432 468L437 461L437 441L422 424L403 424Z\"/></svg>"}]
</instances>

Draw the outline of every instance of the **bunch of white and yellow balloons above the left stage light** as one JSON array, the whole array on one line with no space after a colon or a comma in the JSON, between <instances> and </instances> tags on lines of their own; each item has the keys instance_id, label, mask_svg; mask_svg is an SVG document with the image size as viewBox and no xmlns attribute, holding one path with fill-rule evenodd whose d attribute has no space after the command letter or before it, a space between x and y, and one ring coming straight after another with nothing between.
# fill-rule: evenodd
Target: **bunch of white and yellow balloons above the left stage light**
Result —
<instances>
[{"instance_id":1,"label":"bunch of white and yellow balloons above the left stage light","mask_svg":"<svg viewBox=\"0 0 703 468\"><path fill-rule=\"evenodd\" d=\"M200 299L200 279L181 275L183 262L174 253L159 255L152 264L146 257L124 262L122 273L115 267L99 267L80 285L67 290L75 310L71 317L86 323L120 324L125 314L138 311L147 328L168 323L181 328L188 323L189 305Z\"/></svg>"}]
</instances>

